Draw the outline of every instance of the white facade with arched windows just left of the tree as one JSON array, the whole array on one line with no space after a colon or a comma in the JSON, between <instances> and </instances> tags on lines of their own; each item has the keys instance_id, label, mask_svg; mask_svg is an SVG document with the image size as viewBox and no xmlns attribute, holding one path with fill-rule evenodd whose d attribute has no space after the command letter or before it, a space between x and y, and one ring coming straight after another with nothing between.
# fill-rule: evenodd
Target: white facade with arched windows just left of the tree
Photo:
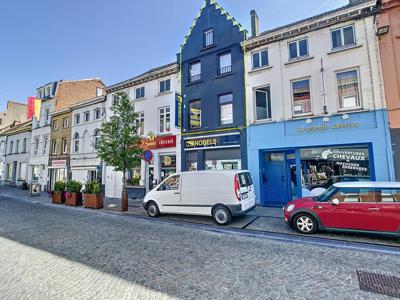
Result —
<instances>
[{"instance_id":1,"label":"white facade with arched windows just left of the tree","mask_svg":"<svg viewBox=\"0 0 400 300\"><path fill-rule=\"evenodd\" d=\"M102 182L102 163L94 145L99 137L101 123L106 117L105 96L72 105L70 168L72 179L80 182Z\"/></svg>"}]
</instances>

